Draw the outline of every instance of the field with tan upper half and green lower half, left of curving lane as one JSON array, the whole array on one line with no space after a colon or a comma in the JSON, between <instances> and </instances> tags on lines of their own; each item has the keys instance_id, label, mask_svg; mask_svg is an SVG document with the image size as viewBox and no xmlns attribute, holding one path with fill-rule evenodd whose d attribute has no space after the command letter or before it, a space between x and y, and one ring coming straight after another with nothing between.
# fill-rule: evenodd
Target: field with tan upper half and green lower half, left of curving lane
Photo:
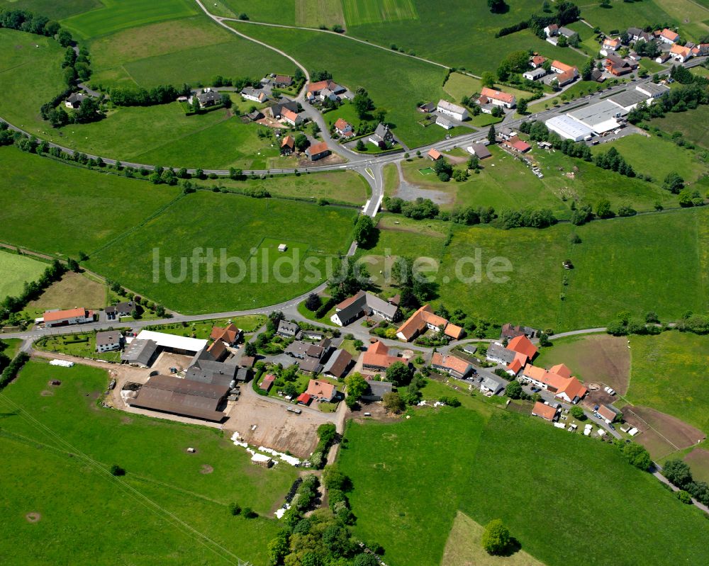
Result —
<instances>
[{"instance_id":1,"label":"field with tan upper half and green lower half, left of curving lane","mask_svg":"<svg viewBox=\"0 0 709 566\"><path fill-rule=\"evenodd\" d=\"M91 84L212 83L213 77L261 78L292 74L294 64L276 52L238 37L206 16L153 23L102 35L89 42ZM238 57L233 55L238 53Z\"/></svg>"}]
</instances>

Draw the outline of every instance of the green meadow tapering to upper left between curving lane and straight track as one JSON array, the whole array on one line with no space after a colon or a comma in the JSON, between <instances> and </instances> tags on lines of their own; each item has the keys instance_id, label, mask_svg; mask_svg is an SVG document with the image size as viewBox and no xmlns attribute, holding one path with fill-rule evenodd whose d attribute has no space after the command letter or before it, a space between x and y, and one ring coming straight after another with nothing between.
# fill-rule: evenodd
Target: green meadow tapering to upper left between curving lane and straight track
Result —
<instances>
[{"instance_id":1,"label":"green meadow tapering to upper left between curving lane and straight track","mask_svg":"<svg viewBox=\"0 0 709 566\"><path fill-rule=\"evenodd\" d=\"M385 119L392 124L394 135L409 147L445 137L443 128L419 125L423 116L416 109L419 101L444 97L445 69L337 35L234 22L230 25L284 50L308 70L327 69L335 81L352 91L364 86L376 107L386 110Z\"/></svg>"}]
</instances>

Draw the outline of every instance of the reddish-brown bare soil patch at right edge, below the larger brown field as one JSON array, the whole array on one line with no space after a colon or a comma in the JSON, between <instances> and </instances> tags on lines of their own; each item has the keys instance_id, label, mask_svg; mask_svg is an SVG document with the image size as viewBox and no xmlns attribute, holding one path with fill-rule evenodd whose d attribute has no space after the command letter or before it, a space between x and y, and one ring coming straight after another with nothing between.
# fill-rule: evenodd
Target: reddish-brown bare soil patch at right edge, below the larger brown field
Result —
<instances>
[{"instance_id":1,"label":"reddish-brown bare soil patch at right edge, below the larger brown field","mask_svg":"<svg viewBox=\"0 0 709 566\"><path fill-rule=\"evenodd\" d=\"M623 418L642 432L637 441L653 458L663 458L674 451L703 441L706 435L694 426L650 407L627 405Z\"/></svg>"}]
</instances>

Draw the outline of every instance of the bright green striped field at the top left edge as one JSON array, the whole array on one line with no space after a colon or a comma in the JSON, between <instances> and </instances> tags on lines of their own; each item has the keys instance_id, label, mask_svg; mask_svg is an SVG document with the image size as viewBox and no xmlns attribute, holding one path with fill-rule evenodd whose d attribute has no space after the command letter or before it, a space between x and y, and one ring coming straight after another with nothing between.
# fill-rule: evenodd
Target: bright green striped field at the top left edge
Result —
<instances>
[{"instance_id":1,"label":"bright green striped field at the top left edge","mask_svg":"<svg viewBox=\"0 0 709 566\"><path fill-rule=\"evenodd\" d=\"M94 38L146 23L194 16L199 6L189 0L101 0L103 8L62 20L62 26L80 38Z\"/></svg>"}]
</instances>

